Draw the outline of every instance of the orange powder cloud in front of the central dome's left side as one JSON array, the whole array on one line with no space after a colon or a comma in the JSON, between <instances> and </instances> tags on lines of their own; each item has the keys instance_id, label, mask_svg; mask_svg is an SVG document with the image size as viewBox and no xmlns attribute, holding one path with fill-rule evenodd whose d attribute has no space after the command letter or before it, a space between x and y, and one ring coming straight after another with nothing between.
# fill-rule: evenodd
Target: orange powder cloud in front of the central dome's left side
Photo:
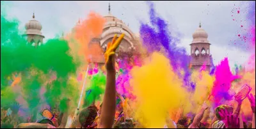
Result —
<instances>
[{"instance_id":1,"label":"orange powder cloud in front of the central dome's left side","mask_svg":"<svg viewBox=\"0 0 256 129\"><path fill-rule=\"evenodd\" d=\"M72 32L65 37L72 50L72 55L78 55L83 62L102 57L102 49L99 44L90 44L90 41L102 34L104 24L105 19L93 12L90 12L85 20L79 21Z\"/></svg>"}]
</instances>

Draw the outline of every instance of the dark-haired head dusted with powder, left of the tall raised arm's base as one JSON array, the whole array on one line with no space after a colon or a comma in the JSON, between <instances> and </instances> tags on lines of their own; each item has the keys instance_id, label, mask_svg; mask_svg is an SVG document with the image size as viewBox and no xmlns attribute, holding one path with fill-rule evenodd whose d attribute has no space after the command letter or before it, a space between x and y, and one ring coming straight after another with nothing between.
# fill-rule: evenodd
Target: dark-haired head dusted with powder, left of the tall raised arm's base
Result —
<instances>
[{"instance_id":1,"label":"dark-haired head dusted with powder, left of the tall raised arm's base","mask_svg":"<svg viewBox=\"0 0 256 129\"><path fill-rule=\"evenodd\" d=\"M92 125L97 116L97 111L98 109L95 105L90 105L86 109L79 112L78 119L83 128L87 128L88 126Z\"/></svg>"}]
</instances>

